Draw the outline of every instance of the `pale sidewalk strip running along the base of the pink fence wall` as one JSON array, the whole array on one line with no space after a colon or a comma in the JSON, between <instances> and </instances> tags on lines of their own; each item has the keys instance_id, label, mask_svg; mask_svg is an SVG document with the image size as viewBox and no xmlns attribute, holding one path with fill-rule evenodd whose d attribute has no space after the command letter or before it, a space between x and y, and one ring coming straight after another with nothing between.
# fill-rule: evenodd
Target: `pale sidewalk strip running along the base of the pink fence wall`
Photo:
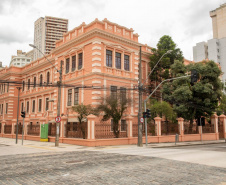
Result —
<instances>
[{"instance_id":1,"label":"pale sidewalk strip running along the base of the pink fence wall","mask_svg":"<svg viewBox=\"0 0 226 185\"><path fill-rule=\"evenodd\" d=\"M18 144L15 143L15 139L0 137L0 156L1 155L15 155L25 153L39 153L39 152L70 152L70 151L97 151L101 149L110 148L137 148L137 145L118 145L118 146L99 146L99 147L87 147L79 145L71 145L65 143L59 143L59 147L55 147L53 142L40 142L24 140L22 145L21 139L18 139ZM182 147L192 145L209 145L225 143L225 140L215 141L193 141L193 142L178 142L178 143L151 143L146 147L143 144L143 148L168 148L168 147ZM225 143L226 144L226 143ZM10 147L9 147L10 146Z\"/></svg>"}]
</instances>

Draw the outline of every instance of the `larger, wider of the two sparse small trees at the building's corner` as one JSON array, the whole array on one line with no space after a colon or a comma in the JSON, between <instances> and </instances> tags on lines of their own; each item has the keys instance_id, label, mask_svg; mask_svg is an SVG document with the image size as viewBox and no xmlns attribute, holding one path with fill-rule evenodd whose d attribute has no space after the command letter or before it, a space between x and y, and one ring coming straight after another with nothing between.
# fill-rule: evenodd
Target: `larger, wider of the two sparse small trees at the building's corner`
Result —
<instances>
[{"instance_id":1,"label":"larger, wider of the two sparse small trees at the building's corner","mask_svg":"<svg viewBox=\"0 0 226 185\"><path fill-rule=\"evenodd\" d=\"M113 133L116 138L119 137L119 121L125 113L130 99L123 96L122 93L110 95L103 99L103 102L97 107L98 112L103 112L104 116L102 121L107 121L110 118L113 120Z\"/></svg>"}]
</instances>

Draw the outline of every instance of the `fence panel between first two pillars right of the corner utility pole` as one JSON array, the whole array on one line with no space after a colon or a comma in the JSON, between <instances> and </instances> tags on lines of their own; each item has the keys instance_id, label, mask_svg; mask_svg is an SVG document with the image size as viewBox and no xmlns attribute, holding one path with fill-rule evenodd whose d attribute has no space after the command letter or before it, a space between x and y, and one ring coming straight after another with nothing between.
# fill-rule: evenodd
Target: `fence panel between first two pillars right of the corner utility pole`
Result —
<instances>
[{"instance_id":1,"label":"fence panel between first two pillars right of the corner utility pole","mask_svg":"<svg viewBox=\"0 0 226 185\"><path fill-rule=\"evenodd\" d=\"M179 134L178 123L171 121L161 121L161 135Z\"/></svg>"}]
</instances>

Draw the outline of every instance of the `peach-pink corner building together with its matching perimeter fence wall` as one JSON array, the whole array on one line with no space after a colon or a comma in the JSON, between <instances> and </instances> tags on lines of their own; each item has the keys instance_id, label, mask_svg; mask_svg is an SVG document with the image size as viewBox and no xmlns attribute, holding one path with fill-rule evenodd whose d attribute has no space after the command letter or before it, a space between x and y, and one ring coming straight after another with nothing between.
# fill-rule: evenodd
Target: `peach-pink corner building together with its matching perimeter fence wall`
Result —
<instances>
[{"instance_id":1,"label":"peach-pink corner building together with its matching perimeter fence wall","mask_svg":"<svg viewBox=\"0 0 226 185\"><path fill-rule=\"evenodd\" d=\"M49 55L39 58L24 67L10 66L0 71L0 136L15 138L19 95L19 138L22 133L22 117L26 112L24 138L40 140L40 128L49 125L49 141L55 140L58 89L61 61L63 63L61 91L60 142L86 146L136 144L138 135L138 64L141 52L142 81L149 69L151 48L138 42L138 34L132 28L120 26L107 19L94 20L64 34L56 41L56 47ZM185 61L190 63L190 61ZM54 65L52 65L52 64ZM56 70L57 69L57 70ZM132 100L120 122L120 138L115 139L111 121L101 122L90 115L84 123L85 139L81 139L77 113L72 106L78 104L101 104L101 98L111 92L123 90ZM145 95L144 95L145 96ZM179 133L180 141L216 140L226 137L226 116L220 121L214 115L211 125L202 132L188 130L182 118L175 129L164 131L164 122L155 118L149 124L148 142L173 142ZM168 135L163 135L168 134ZM143 139L145 141L145 139Z\"/></svg>"}]
</instances>

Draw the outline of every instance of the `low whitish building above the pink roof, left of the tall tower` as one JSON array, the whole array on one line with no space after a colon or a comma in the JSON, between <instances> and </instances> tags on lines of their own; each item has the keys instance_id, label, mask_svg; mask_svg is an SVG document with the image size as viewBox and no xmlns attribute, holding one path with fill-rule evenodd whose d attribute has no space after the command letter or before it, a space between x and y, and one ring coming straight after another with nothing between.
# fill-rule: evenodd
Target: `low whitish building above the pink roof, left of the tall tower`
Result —
<instances>
[{"instance_id":1,"label":"low whitish building above the pink roof, left of the tall tower","mask_svg":"<svg viewBox=\"0 0 226 185\"><path fill-rule=\"evenodd\" d=\"M23 52L22 50L17 50L17 56L11 57L11 62L9 66L22 67L22 66L25 66L26 64L29 64L32 61L31 53L32 51L26 53L26 52Z\"/></svg>"}]
</instances>

